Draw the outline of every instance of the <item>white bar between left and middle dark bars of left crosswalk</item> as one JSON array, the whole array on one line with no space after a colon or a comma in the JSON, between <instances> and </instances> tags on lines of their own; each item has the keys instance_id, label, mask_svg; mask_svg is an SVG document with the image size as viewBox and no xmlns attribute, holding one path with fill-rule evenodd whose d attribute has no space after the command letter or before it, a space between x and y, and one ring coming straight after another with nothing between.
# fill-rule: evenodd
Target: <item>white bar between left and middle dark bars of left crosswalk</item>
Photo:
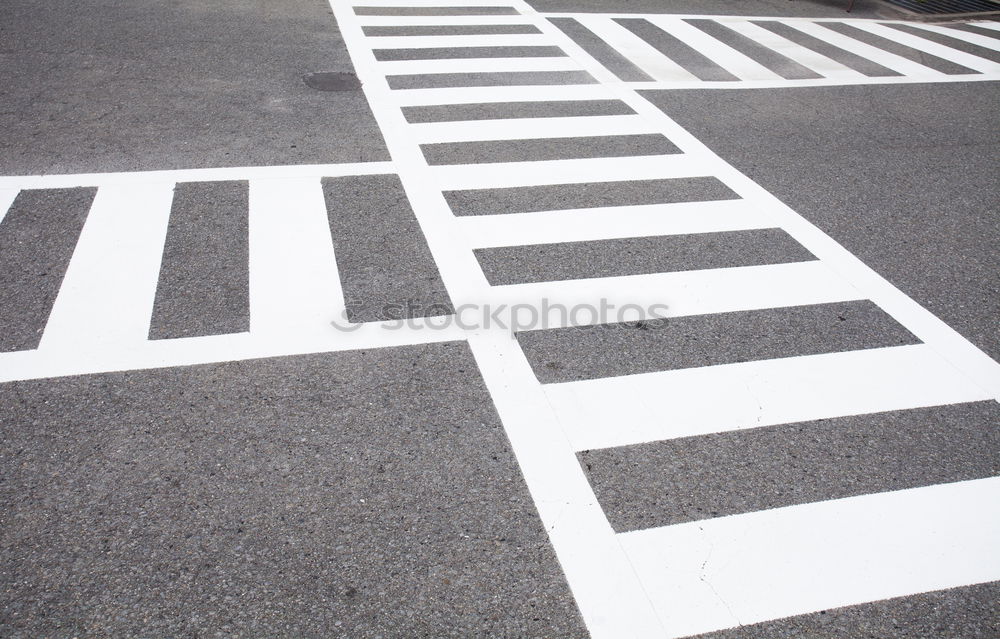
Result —
<instances>
[{"instance_id":1,"label":"white bar between left and middle dark bars of left crosswalk","mask_svg":"<svg viewBox=\"0 0 1000 639\"><path fill-rule=\"evenodd\" d=\"M170 220L173 183L97 191L39 351L84 360L146 341Z\"/></svg>"}]
</instances>

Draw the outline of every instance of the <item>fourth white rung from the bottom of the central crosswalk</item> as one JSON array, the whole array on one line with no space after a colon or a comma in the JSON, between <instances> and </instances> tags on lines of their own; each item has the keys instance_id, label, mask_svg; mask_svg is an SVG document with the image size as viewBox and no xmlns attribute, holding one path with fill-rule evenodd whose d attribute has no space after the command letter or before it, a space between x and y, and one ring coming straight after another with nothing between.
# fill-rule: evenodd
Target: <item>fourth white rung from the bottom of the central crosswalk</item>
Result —
<instances>
[{"instance_id":1,"label":"fourth white rung from the bottom of the central crosswalk","mask_svg":"<svg viewBox=\"0 0 1000 639\"><path fill-rule=\"evenodd\" d=\"M469 246L523 246L621 237L714 233L772 227L741 200L646 204L459 217Z\"/></svg>"}]
</instances>

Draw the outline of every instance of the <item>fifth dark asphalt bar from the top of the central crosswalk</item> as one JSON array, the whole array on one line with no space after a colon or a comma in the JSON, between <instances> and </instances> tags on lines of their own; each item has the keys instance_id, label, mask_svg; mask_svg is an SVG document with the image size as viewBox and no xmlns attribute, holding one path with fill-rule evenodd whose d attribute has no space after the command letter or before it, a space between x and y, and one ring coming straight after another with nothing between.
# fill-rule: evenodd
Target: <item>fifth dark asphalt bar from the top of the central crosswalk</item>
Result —
<instances>
[{"instance_id":1,"label":"fifth dark asphalt bar from the top of the central crosswalk","mask_svg":"<svg viewBox=\"0 0 1000 639\"><path fill-rule=\"evenodd\" d=\"M459 122L511 118L564 118L589 115L631 115L621 100L569 100L557 102L489 102L403 107L407 122Z\"/></svg>"}]
</instances>

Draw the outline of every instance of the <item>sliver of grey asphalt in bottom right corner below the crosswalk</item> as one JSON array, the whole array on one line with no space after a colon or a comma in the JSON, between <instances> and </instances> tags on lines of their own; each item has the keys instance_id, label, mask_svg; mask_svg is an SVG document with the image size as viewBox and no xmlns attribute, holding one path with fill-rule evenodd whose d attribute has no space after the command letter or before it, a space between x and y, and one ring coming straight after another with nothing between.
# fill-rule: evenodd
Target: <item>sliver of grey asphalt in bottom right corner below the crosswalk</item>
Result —
<instances>
[{"instance_id":1,"label":"sliver of grey asphalt in bottom right corner below the crosswalk","mask_svg":"<svg viewBox=\"0 0 1000 639\"><path fill-rule=\"evenodd\" d=\"M698 639L991 639L1000 636L1000 582L925 592L740 626Z\"/></svg>"}]
</instances>

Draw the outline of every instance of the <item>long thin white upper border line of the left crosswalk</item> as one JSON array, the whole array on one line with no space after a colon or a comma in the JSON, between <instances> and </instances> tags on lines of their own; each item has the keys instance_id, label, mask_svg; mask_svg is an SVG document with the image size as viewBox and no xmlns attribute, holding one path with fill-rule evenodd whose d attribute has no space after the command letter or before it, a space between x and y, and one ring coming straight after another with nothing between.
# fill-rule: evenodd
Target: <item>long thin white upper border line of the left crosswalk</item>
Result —
<instances>
[{"instance_id":1,"label":"long thin white upper border line of the left crosswalk","mask_svg":"<svg viewBox=\"0 0 1000 639\"><path fill-rule=\"evenodd\" d=\"M66 175L0 176L0 189L58 189L74 186L136 185L147 182L216 182L255 178L337 177L395 173L392 162L350 164L295 164L290 166L244 166L217 169L135 171L130 173L79 173Z\"/></svg>"}]
</instances>

